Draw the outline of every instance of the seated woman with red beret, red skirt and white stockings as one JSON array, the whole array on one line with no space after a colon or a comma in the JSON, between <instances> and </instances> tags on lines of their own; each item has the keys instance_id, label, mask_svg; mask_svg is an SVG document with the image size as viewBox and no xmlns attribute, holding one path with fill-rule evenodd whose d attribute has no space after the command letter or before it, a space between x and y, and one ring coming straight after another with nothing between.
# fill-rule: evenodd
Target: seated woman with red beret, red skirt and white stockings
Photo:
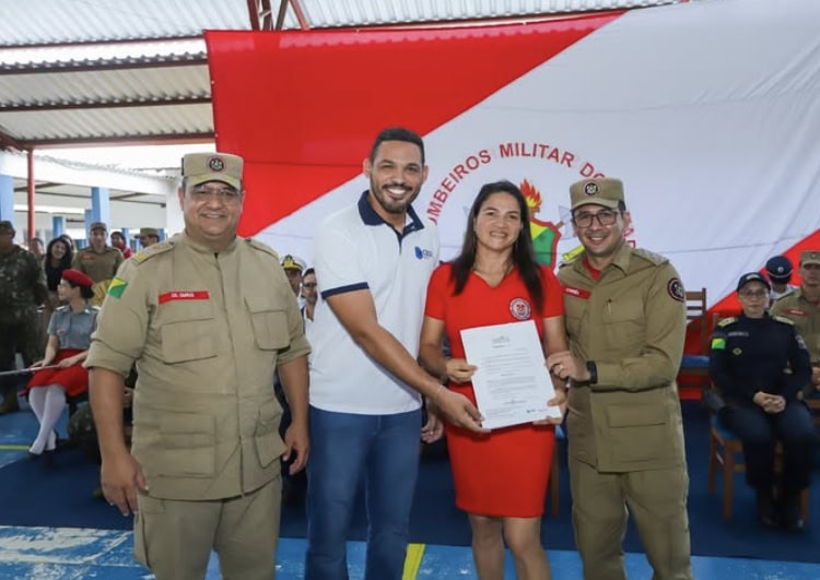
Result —
<instances>
[{"instance_id":1,"label":"seated woman with red beret, red skirt and white stockings","mask_svg":"<svg viewBox=\"0 0 820 580\"><path fill-rule=\"evenodd\" d=\"M91 333L96 328L97 307L90 298L94 282L78 270L65 270L57 287L61 301L67 303L54 311L48 323L48 344L42 360L32 365L35 372L25 392L39 422L37 438L28 449L31 459L50 453L57 447L54 430L66 407L66 398L75 396L89 389L89 371L80 363L85 360L91 345Z\"/></svg>"}]
</instances>

